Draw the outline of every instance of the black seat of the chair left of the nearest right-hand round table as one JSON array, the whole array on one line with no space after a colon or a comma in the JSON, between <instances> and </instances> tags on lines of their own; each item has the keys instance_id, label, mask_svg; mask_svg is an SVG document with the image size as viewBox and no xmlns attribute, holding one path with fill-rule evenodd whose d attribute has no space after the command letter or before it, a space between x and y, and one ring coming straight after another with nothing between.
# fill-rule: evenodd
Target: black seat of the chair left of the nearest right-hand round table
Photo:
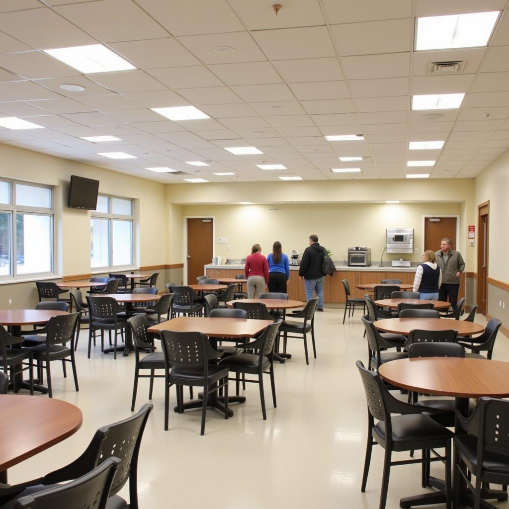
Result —
<instances>
[{"instance_id":1,"label":"black seat of the chair left of the nearest right-hand round table","mask_svg":"<svg viewBox=\"0 0 509 509\"><path fill-rule=\"evenodd\" d=\"M452 431L425 414L398 415L392 417L391 422L395 451L444 447L454 436ZM386 441L384 422L373 427L373 438Z\"/></svg>"}]
</instances>

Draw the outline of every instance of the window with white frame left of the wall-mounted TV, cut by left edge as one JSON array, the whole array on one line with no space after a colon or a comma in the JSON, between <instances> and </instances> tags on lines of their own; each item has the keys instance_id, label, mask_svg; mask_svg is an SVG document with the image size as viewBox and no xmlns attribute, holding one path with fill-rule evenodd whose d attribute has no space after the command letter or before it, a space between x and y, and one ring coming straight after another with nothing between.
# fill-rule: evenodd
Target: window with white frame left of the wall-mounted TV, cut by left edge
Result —
<instances>
[{"instance_id":1,"label":"window with white frame left of the wall-mounted TV, cut by left edge","mask_svg":"<svg viewBox=\"0 0 509 509\"><path fill-rule=\"evenodd\" d=\"M0 278L53 272L53 191L0 181Z\"/></svg>"}]
</instances>

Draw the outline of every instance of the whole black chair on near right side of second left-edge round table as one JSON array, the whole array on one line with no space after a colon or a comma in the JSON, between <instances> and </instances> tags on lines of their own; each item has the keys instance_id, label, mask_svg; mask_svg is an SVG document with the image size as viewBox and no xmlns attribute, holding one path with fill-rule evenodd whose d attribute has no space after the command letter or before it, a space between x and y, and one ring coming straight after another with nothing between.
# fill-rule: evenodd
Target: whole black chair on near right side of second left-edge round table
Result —
<instances>
[{"instance_id":1,"label":"whole black chair on near right side of second left-edge round table","mask_svg":"<svg viewBox=\"0 0 509 509\"><path fill-rule=\"evenodd\" d=\"M46 379L48 383L48 396L53 397L51 389L51 361L61 360L64 378L67 377L66 362L71 363L72 374L74 377L74 387L76 392L78 388L78 375L76 373L76 360L74 358L74 333L78 323L79 313L70 315L60 315L51 317L44 327L46 341L40 345L27 347L33 353L33 360L37 363L39 380L42 382L42 370L46 369ZM70 347L65 344L70 342ZM70 357L70 358L68 358Z\"/></svg>"}]
</instances>

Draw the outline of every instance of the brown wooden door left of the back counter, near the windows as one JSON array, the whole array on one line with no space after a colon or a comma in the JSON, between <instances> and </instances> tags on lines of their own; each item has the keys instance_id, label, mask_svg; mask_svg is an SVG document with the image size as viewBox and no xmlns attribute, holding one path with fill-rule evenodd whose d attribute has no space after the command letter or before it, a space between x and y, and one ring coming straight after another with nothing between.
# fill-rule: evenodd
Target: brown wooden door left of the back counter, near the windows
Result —
<instances>
[{"instance_id":1,"label":"brown wooden door left of the back counter, near the windows","mask_svg":"<svg viewBox=\"0 0 509 509\"><path fill-rule=\"evenodd\" d=\"M204 265L212 262L212 219L187 219L187 283L196 284Z\"/></svg>"}]
</instances>

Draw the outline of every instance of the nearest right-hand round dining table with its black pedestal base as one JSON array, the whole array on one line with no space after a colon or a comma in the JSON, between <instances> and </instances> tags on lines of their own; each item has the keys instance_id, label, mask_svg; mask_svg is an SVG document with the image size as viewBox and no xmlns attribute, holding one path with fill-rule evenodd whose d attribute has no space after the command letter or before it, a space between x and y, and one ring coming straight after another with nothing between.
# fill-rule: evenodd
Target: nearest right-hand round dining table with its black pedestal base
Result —
<instances>
[{"instance_id":1,"label":"nearest right-hand round dining table with its black pedestal base","mask_svg":"<svg viewBox=\"0 0 509 509\"><path fill-rule=\"evenodd\" d=\"M376 322L375 322L376 323ZM467 322L469 323L469 322ZM413 392L455 398L455 408L468 416L469 399L509 397L509 362L458 357L417 357L392 360L379 366L378 373L386 382ZM464 433L456 420L456 433ZM438 491L405 497L400 507L445 503L444 482L430 477L430 486ZM466 489L460 487L461 506L473 506ZM507 500L507 492L485 490L486 498Z\"/></svg>"}]
</instances>

